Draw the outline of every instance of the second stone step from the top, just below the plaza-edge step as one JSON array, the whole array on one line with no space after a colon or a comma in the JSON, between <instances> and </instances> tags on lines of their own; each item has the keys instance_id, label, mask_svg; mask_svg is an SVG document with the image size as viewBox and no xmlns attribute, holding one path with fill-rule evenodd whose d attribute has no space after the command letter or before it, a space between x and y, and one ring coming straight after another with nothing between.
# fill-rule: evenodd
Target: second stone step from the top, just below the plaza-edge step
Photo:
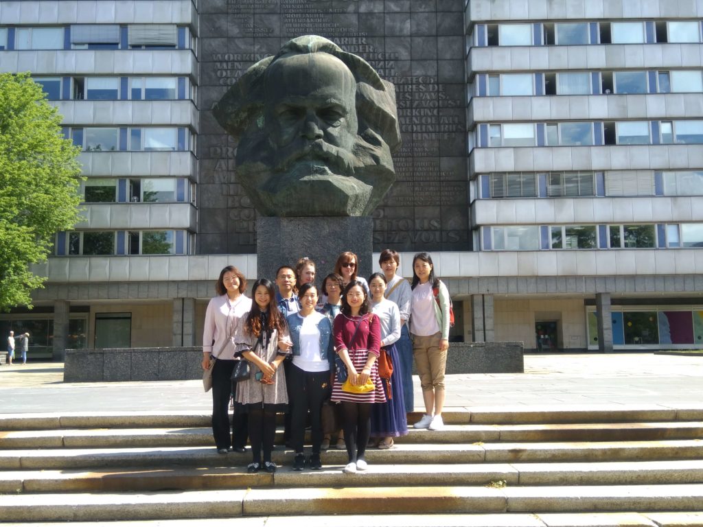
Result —
<instances>
[{"instance_id":1,"label":"second stone step from the top, just below the plaza-edge step","mask_svg":"<svg viewBox=\"0 0 703 527\"><path fill-rule=\"evenodd\" d=\"M497 441L655 441L703 437L703 422L583 424L449 424L443 431L410 429L396 443L475 443ZM283 443L283 429L276 444ZM7 431L0 448L110 448L208 446L208 428L49 429Z\"/></svg>"}]
</instances>

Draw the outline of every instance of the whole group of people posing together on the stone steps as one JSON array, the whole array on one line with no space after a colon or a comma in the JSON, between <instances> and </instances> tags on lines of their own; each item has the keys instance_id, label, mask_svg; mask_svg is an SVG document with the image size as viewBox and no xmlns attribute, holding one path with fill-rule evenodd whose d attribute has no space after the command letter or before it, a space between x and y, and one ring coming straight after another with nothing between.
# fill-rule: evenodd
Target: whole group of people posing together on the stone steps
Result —
<instances>
[{"instance_id":1,"label":"whole group of people posing together on the stone steps","mask_svg":"<svg viewBox=\"0 0 703 527\"><path fill-rule=\"evenodd\" d=\"M330 403L342 423L337 448L343 444L347 450L344 472L366 470L368 445L392 448L394 438L408 434L413 358L425 402L425 415L414 426L443 428L449 292L434 276L430 255L415 255L412 284L396 274L399 255L390 249L381 253L383 272L368 282L356 275L357 263L352 252L340 254L318 291L315 263L300 259L295 268L279 268L278 296L273 282L261 278L254 282L251 299L245 297L247 282L237 268L221 271L218 296L205 314L202 367L215 360L212 431L217 451L245 451L248 435L250 473L276 471L271 452L279 412L290 416L286 428L294 450L292 468L321 469L321 452L330 444L321 412ZM285 291L292 271L295 297ZM232 384L241 360L247 361L250 375ZM230 435L231 393L236 405ZM306 459L308 423L312 448Z\"/></svg>"}]
</instances>

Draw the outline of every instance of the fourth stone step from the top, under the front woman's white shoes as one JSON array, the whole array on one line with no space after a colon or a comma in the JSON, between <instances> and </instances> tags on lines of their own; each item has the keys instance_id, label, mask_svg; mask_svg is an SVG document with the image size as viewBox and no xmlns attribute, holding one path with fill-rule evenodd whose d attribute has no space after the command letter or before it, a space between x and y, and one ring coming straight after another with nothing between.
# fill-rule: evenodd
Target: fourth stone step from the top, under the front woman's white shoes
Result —
<instances>
[{"instance_id":1,"label":"fourth stone step from the top, under the front woman's white shoes","mask_svg":"<svg viewBox=\"0 0 703 527\"><path fill-rule=\"evenodd\" d=\"M249 460L247 460L249 461ZM369 464L350 480L342 465L293 471L292 458L276 474L239 467L112 467L98 471L0 471L0 493L124 492L266 487L661 485L703 483L703 460L602 463Z\"/></svg>"}]
</instances>

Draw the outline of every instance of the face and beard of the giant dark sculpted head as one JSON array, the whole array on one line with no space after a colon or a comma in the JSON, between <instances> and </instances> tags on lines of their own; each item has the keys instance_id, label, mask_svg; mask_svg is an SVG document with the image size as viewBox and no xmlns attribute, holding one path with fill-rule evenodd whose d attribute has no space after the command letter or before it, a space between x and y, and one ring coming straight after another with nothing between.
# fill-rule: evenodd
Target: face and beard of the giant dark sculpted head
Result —
<instances>
[{"instance_id":1,"label":"face and beard of the giant dark sculpted head","mask_svg":"<svg viewBox=\"0 0 703 527\"><path fill-rule=\"evenodd\" d=\"M356 80L328 53L292 55L266 72L264 115L237 152L238 180L264 216L361 216L391 185L390 170L360 155ZM366 144L366 143L365 143ZM390 160L388 153L387 159ZM379 198L380 199L380 198Z\"/></svg>"}]
</instances>

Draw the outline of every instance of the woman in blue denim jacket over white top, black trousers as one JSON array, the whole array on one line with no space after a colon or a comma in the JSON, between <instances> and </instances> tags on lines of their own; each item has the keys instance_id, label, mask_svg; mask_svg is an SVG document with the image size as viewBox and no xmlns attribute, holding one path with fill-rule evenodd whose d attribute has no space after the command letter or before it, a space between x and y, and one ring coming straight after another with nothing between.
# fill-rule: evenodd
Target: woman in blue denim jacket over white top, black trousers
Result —
<instances>
[{"instance_id":1,"label":"woman in blue denim jacket over white top, black trousers","mask_svg":"<svg viewBox=\"0 0 703 527\"><path fill-rule=\"evenodd\" d=\"M293 356L286 378L291 394L289 404L292 412L292 443L295 448L293 470L305 468L303 440L308 411L312 426L312 455L309 467L319 470L322 468L322 403L330 396L330 372L334 372L332 323L325 315L315 311L318 293L313 284L302 285L298 297L300 311L288 315L287 318Z\"/></svg>"}]
</instances>

